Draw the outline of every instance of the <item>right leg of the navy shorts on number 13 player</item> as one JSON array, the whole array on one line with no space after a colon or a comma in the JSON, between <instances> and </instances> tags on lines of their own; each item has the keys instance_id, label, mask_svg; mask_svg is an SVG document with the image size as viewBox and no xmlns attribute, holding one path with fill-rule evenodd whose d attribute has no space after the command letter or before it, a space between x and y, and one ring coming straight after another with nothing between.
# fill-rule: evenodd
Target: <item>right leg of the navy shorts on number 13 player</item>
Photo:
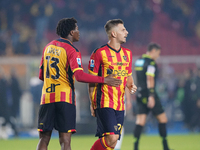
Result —
<instances>
[{"instance_id":1,"label":"right leg of the navy shorts on number 13 player","mask_svg":"<svg viewBox=\"0 0 200 150\"><path fill-rule=\"evenodd\" d=\"M56 103L55 129L59 132L76 132L76 106L66 102Z\"/></svg>"}]
</instances>

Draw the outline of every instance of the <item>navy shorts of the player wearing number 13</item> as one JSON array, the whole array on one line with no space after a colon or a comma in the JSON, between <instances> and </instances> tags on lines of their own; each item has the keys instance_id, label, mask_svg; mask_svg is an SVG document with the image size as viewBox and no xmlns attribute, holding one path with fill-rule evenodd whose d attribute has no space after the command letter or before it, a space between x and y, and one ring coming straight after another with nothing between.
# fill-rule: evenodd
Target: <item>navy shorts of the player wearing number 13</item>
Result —
<instances>
[{"instance_id":1,"label":"navy shorts of the player wearing number 13","mask_svg":"<svg viewBox=\"0 0 200 150\"><path fill-rule=\"evenodd\" d=\"M66 102L40 105L38 131L76 132L76 106Z\"/></svg>"}]
</instances>

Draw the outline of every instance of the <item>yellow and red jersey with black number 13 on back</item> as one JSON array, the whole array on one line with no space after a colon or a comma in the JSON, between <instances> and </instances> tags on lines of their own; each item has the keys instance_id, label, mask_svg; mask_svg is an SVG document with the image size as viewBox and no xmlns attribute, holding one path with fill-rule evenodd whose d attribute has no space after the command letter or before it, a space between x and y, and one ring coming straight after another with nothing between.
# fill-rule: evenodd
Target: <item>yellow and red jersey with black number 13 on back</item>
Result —
<instances>
[{"instance_id":1,"label":"yellow and red jersey with black number 13 on back","mask_svg":"<svg viewBox=\"0 0 200 150\"><path fill-rule=\"evenodd\" d=\"M74 72L83 70L78 49L67 39L53 40L43 50L40 68L44 78L40 104L67 102L76 105Z\"/></svg>"}]
</instances>

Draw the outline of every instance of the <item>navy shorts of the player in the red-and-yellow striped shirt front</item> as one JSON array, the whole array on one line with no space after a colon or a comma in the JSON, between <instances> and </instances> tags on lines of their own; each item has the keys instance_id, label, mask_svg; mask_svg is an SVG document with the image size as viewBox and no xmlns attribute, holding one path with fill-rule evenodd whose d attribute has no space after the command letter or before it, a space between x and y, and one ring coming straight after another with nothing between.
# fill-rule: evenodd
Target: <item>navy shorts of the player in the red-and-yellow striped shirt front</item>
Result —
<instances>
[{"instance_id":1,"label":"navy shorts of the player in the red-and-yellow striped shirt front","mask_svg":"<svg viewBox=\"0 0 200 150\"><path fill-rule=\"evenodd\" d=\"M117 111L112 108L98 108L95 113L97 117L96 136L101 138L105 135L119 134L120 138L124 123L124 111Z\"/></svg>"}]
</instances>

